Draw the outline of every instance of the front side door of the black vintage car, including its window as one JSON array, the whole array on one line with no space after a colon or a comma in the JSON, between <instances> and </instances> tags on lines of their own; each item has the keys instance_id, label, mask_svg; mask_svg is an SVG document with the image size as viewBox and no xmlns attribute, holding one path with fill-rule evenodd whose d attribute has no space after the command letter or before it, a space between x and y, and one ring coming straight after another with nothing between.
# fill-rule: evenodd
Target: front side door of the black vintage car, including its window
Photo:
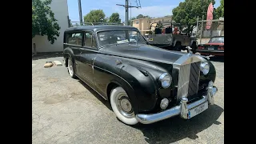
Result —
<instances>
[{"instance_id":1,"label":"front side door of the black vintage car, including its window","mask_svg":"<svg viewBox=\"0 0 256 144\"><path fill-rule=\"evenodd\" d=\"M84 42L82 48L80 48L80 59L81 65L79 71L82 74L82 79L90 86L94 87L94 60L98 54L94 32L84 32Z\"/></svg>"}]
</instances>

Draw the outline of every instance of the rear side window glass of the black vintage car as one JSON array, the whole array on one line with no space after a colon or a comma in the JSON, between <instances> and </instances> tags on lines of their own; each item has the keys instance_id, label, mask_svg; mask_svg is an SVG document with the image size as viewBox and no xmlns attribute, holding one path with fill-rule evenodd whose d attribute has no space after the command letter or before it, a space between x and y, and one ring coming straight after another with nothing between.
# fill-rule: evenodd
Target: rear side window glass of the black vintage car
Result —
<instances>
[{"instance_id":1,"label":"rear side window glass of the black vintage car","mask_svg":"<svg viewBox=\"0 0 256 144\"><path fill-rule=\"evenodd\" d=\"M71 44L71 45L82 46L82 33L66 34L66 43Z\"/></svg>"}]
</instances>

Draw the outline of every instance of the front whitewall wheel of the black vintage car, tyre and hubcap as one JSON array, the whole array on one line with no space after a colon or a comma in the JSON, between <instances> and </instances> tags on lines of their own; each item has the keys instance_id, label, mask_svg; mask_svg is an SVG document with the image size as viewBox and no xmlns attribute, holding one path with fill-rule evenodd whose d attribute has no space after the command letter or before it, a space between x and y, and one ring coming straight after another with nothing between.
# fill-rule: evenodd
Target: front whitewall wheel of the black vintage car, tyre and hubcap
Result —
<instances>
[{"instance_id":1,"label":"front whitewall wheel of the black vintage car, tyre and hubcap","mask_svg":"<svg viewBox=\"0 0 256 144\"><path fill-rule=\"evenodd\" d=\"M138 123L130 103L130 98L122 87L118 86L111 91L110 104L114 114L120 121L127 125L136 125Z\"/></svg>"}]
</instances>

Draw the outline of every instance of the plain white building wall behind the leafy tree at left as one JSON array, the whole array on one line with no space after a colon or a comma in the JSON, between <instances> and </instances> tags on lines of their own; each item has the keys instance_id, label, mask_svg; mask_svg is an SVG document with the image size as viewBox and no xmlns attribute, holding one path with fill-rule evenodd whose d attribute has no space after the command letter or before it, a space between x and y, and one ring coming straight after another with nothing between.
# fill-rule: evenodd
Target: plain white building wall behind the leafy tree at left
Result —
<instances>
[{"instance_id":1,"label":"plain white building wall behind the leafy tree at left","mask_svg":"<svg viewBox=\"0 0 256 144\"><path fill-rule=\"evenodd\" d=\"M68 28L68 7L67 0L53 0L50 4L51 10L54 12L54 17L58 20L58 25L61 27L60 34L54 44L50 44L47 40L47 36L35 36L32 38L32 52L33 43L36 44L36 50L38 52L53 52L63 50L63 32Z\"/></svg>"}]
</instances>

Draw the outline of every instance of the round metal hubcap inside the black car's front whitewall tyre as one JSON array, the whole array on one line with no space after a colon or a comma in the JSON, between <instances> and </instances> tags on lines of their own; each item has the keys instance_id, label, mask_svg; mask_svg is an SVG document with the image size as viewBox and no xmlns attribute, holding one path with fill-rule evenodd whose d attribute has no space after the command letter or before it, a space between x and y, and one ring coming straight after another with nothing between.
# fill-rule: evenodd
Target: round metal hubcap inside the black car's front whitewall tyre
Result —
<instances>
[{"instance_id":1,"label":"round metal hubcap inside the black car's front whitewall tyre","mask_svg":"<svg viewBox=\"0 0 256 144\"><path fill-rule=\"evenodd\" d=\"M116 104L118 105L118 111L126 118L134 118L134 110L130 104L130 98L126 93L118 94L116 98Z\"/></svg>"}]
</instances>

